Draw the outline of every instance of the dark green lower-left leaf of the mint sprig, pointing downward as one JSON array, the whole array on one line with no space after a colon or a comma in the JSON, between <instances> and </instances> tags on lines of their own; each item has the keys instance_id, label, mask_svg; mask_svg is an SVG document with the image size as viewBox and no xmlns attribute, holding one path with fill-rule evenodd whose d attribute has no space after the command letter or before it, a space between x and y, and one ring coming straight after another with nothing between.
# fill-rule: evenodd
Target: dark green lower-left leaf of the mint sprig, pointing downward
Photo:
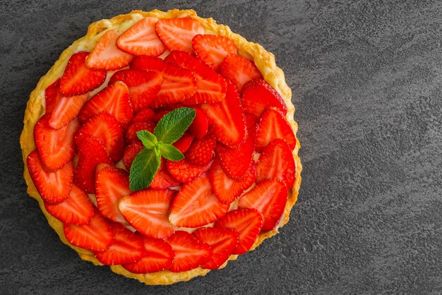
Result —
<instances>
[{"instance_id":1,"label":"dark green lower-left leaf of the mint sprig, pointing downward","mask_svg":"<svg viewBox=\"0 0 442 295\"><path fill-rule=\"evenodd\" d=\"M153 176L160 168L161 155L154 150L143 149L138 152L131 165L129 187L132 191L147 188L153 181Z\"/></svg>"}]
</instances>

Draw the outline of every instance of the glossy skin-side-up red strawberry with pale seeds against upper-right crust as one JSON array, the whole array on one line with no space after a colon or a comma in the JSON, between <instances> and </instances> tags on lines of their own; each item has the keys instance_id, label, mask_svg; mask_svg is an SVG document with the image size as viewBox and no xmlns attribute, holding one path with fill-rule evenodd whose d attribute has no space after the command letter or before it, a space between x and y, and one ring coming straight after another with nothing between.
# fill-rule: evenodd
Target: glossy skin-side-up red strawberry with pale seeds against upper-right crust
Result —
<instances>
[{"instance_id":1,"label":"glossy skin-side-up red strawberry with pale seeds against upper-right crust","mask_svg":"<svg viewBox=\"0 0 442 295\"><path fill-rule=\"evenodd\" d=\"M281 95L262 78L253 79L244 84L241 98L244 112L253 114L257 118L268 107L275 107L283 115L287 114L287 106Z\"/></svg>"}]
</instances>

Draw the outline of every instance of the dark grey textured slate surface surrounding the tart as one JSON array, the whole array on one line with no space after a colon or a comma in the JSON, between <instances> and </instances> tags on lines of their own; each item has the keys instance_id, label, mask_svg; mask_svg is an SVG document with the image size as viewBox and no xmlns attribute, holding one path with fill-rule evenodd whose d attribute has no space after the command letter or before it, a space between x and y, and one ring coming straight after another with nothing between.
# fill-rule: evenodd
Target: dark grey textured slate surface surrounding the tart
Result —
<instances>
[{"instance_id":1,"label":"dark grey textured slate surface surrounding the tart","mask_svg":"<svg viewBox=\"0 0 442 295\"><path fill-rule=\"evenodd\" d=\"M442 291L441 1L1 1L1 294ZM273 52L304 165L292 219L224 270L146 287L83 262L25 193L28 95L89 23L193 8Z\"/></svg>"}]
</instances>

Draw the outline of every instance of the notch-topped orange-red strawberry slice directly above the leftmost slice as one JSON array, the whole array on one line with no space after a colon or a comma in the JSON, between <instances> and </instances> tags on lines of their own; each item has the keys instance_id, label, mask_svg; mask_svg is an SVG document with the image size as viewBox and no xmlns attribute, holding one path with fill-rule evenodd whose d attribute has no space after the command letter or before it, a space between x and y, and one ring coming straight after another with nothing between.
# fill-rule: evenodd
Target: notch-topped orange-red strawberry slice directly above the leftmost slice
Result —
<instances>
[{"instance_id":1,"label":"notch-topped orange-red strawberry slice directly above the leftmost slice","mask_svg":"<svg viewBox=\"0 0 442 295\"><path fill-rule=\"evenodd\" d=\"M49 126L49 117L42 116L35 124L34 140L45 167L56 170L71 161L75 155L73 136L78 131L78 120L60 129Z\"/></svg>"}]
</instances>

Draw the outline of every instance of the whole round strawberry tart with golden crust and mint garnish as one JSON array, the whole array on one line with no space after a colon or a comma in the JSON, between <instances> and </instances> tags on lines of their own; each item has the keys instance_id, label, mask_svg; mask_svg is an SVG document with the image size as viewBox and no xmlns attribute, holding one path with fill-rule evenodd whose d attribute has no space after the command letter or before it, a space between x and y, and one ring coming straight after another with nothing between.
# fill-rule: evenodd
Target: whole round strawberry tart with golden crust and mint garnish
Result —
<instances>
[{"instance_id":1,"label":"whole round strawberry tart with golden crust and mint garnish","mask_svg":"<svg viewBox=\"0 0 442 295\"><path fill-rule=\"evenodd\" d=\"M289 220L291 95L273 54L195 11L97 21L30 95L28 193L83 260L145 284L205 275Z\"/></svg>"}]
</instances>

